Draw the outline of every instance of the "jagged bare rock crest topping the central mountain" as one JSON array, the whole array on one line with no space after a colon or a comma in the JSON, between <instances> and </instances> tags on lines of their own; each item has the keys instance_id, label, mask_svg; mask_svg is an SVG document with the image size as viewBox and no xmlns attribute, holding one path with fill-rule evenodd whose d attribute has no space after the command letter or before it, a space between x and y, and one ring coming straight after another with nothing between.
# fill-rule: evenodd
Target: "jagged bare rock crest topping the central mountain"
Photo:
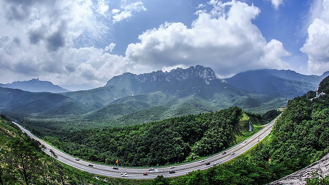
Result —
<instances>
[{"instance_id":1,"label":"jagged bare rock crest topping the central mountain","mask_svg":"<svg viewBox=\"0 0 329 185\"><path fill-rule=\"evenodd\" d=\"M202 65L191 66L187 69L177 67L176 69L170 70L170 72L162 70L153 71L150 73L143 73L140 75L135 75L133 73L123 73L122 75L115 76L111 80L107 81L105 86L111 86L117 84L120 81L135 79L138 82L153 82L153 81L173 81L173 80L186 80L192 78L202 78L205 79L206 83L211 80L221 80L215 74L215 72L210 67L204 67Z\"/></svg>"}]
</instances>

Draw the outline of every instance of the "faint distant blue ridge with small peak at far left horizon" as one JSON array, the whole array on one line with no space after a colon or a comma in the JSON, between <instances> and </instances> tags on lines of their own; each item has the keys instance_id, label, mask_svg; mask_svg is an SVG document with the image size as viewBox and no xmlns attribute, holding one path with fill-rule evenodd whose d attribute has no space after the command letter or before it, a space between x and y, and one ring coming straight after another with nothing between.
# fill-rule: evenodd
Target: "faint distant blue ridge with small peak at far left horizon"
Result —
<instances>
[{"instance_id":1,"label":"faint distant blue ridge with small peak at far left horizon","mask_svg":"<svg viewBox=\"0 0 329 185\"><path fill-rule=\"evenodd\" d=\"M0 87L16 88L30 92L65 93L69 91L58 85L54 85L51 82L41 81L39 78L29 81L16 81L13 83L0 84Z\"/></svg>"}]
</instances>

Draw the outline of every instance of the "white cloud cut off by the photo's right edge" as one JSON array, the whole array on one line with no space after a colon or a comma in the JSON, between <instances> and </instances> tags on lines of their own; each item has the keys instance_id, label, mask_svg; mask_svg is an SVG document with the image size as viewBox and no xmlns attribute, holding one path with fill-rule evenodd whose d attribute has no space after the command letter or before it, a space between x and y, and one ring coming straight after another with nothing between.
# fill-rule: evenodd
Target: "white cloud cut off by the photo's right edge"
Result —
<instances>
[{"instance_id":1,"label":"white cloud cut off by the photo's right edge","mask_svg":"<svg viewBox=\"0 0 329 185\"><path fill-rule=\"evenodd\" d=\"M322 2L322 10L317 15L308 27L301 51L308 55L308 71L321 74L329 70L329 0Z\"/></svg>"}]
</instances>

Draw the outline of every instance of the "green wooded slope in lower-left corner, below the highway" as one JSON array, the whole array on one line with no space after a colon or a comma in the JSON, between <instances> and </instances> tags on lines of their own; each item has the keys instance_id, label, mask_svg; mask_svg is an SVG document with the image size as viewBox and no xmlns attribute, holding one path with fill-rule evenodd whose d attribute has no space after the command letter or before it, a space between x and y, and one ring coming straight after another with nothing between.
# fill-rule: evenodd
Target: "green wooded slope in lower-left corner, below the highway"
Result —
<instances>
[{"instance_id":1,"label":"green wooded slope in lower-left corner, below the highway","mask_svg":"<svg viewBox=\"0 0 329 185\"><path fill-rule=\"evenodd\" d=\"M68 167L43 150L40 142L0 118L0 184L108 184L104 177Z\"/></svg>"}]
</instances>

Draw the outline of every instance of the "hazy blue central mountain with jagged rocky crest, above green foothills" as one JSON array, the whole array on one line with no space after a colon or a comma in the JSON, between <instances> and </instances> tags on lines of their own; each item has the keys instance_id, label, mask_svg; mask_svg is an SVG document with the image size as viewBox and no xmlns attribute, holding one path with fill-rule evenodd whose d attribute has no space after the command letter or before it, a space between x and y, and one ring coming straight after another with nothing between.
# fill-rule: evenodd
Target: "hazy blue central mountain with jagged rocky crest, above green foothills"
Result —
<instances>
[{"instance_id":1,"label":"hazy blue central mountain with jagged rocky crest, above green foothills","mask_svg":"<svg viewBox=\"0 0 329 185\"><path fill-rule=\"evenodd\" d=\"M197 65L188 69L177 68L170 72L159 70L141 75L126 72L107 81L104 87L69 92L64 95L86 104L96 105L96 102L100 102L106 105L120 98L145 95L156 91L186 97L205 91L206 86L210 88L221 86L224 89L227 83L218 78L211 68ZM212 91L218 90L220 89Z\"/></svg>"}]
</instances>

